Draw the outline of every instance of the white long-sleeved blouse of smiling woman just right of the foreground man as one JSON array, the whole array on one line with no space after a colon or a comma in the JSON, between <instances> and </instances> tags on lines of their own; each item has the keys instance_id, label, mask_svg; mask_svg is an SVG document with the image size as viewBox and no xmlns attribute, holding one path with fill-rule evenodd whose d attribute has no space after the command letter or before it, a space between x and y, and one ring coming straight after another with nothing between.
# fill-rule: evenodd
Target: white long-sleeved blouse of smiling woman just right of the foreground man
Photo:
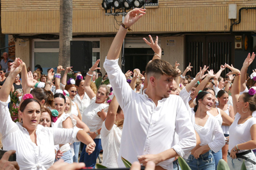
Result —
<instances>
[{"instance_id":1,"label":"white long-sleeved blouse of smiling woman just right of the foreground man","mask_svg":"<svg viewBox=\"0 0 256 170\"><path fill-rule=\"evenodd\" d=\"M209 116L204 127L196 125L195 112L191 109L191 121L195 127L196 132L200 136L201 144L204 146L208 144L209 148L215 153L218 152L225 145L225 137L223 131L214 116Z\"/></svg>"}]
</instances>

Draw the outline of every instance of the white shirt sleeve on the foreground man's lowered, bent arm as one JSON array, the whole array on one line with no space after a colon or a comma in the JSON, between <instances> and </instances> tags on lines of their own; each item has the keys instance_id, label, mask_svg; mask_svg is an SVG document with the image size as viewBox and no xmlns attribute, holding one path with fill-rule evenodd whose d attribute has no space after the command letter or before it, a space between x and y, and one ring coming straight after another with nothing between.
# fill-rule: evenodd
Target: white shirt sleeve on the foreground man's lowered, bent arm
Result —
<instances>
[{"instance_id":1,"label":"white shirt sleeve on the foreground man's lowered, bent arm","mask_svg":"<svg viewBox=\"0 0 256 170\"><path fill-rule=\"evenodd\" d=\"M176 114L175 128L176 132L180 137L179 143L175 144L172 148L175 150L180 157L189 153L196 146L196 134L194 127L189 120L189 113L182 102L182 99L179 98L179 106Z\"/></svg>"}]
</instances>

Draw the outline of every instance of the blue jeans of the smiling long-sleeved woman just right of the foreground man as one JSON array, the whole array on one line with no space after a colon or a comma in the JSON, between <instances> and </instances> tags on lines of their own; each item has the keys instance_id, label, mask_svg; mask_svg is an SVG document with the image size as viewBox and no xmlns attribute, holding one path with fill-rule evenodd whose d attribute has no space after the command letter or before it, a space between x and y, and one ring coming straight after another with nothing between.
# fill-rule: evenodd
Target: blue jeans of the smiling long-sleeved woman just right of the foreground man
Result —
<instances>
[{"instance_id":1,"label":"blue jeans of the smiling long-sleeved woman just right of the foreground man","mask_svg":"<svg viewBox=\"0 0 256 170\"><path fill-rule=\"evenodd\" d=\"M215 162L212 156L211 150L206 153L200 155L199 158L195 158L193 155L189 155L188 159L186 159L188 166L192 170L214 170Z\"/></svg>"}]
</instances>

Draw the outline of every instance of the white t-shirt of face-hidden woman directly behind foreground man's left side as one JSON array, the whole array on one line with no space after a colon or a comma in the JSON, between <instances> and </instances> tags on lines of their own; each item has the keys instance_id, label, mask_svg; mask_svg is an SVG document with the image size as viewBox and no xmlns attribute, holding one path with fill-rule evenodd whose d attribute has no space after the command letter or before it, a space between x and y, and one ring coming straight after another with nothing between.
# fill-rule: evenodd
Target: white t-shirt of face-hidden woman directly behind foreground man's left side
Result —
<instances>
[{"instance_id":1,"label":"white t-shirt of face-hidden woman directly behind foreground man's left side","mask_svg":"<svg viewBox=\"0 0 256 170\"><path fill-rule=\"evenodd\" d=\"M116 125L113 125L111 130L108 130L105 121L102 123L101 144L104 150L102 165L108 168L117 168L117 158L121 143L122 130Z\"/></svg>"}]
</instances>

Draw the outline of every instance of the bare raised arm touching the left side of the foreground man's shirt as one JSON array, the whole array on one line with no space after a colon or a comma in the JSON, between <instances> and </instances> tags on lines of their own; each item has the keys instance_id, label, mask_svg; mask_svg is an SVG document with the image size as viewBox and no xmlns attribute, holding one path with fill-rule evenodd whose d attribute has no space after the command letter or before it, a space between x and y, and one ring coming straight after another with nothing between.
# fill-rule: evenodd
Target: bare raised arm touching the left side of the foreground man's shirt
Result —
<instances>
[{"instance_id":1,"label":"bare raised arm touching the left side of the foreground man's shirt","mask_svg":"<svg viewBox=\"0 0 256 170\"><path fill-rule=\"evenodd\" d=\"M105 126L108 130L111 130L111 128L115 124L117 109L118 109L118 102L116 100L116 97L114 96L108 107L108 114L105 120Z\"/></svg>"}]
</instances>

